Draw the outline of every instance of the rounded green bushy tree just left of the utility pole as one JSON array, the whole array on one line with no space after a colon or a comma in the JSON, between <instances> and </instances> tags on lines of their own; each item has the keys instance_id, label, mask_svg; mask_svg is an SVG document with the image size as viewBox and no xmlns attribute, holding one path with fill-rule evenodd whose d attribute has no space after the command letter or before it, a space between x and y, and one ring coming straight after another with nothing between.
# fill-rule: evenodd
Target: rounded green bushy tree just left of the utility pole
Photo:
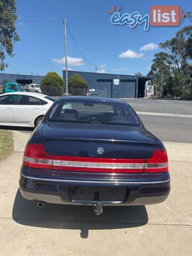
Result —
<instances>
[{"instance_id":1,"label":"rounded green bushy tree just left of the utility pole","mask_svg":"<svg viewBox=\"0 0 192 256\"><path fill-rule=\"evenodd\" d=\"M64 87L62 78L55 72L47 73L41 81L41 90L47 95L60 96Z\"/></svg>"}]
</instances>

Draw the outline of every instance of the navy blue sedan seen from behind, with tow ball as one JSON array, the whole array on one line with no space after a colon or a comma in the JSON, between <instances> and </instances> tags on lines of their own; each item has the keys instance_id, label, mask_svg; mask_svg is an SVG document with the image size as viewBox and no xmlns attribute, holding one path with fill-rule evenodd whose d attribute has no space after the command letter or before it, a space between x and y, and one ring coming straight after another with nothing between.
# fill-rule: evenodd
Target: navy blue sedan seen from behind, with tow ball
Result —
<instances>
[{"instance_id":1,"label":"navy blue sedan seen from behind, with tow ball","mask_svg":"<svg viewBox=\"0 0 192 256\"><path fill-rule=\"evenodd\" d=\"M168 159L163 143L124 101L61 97L27 143L19 186L39 207L93 205L99 215L102 205L165 201Z\"/></svg>"}]
</instances>

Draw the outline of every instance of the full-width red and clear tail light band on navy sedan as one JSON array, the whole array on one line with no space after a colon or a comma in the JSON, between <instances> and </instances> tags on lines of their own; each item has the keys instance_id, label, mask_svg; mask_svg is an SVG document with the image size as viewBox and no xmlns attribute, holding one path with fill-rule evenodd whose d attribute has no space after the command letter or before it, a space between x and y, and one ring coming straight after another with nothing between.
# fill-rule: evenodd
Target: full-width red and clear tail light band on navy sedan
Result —
<instances>
[{"instance_id":1,"label":"full-width red and clear tail light band on navy sedan","mask_svg":"<svg viewBox=\"0 0 192 256\"><path fill-rule=\"evenodd\" d=\"M154 150L150 159L67 157L48 155L43 145L40 144L26 146L23 165L39 169L82 172L143 173L168 171L165 150Z\"/></svg>"}]
</instances>

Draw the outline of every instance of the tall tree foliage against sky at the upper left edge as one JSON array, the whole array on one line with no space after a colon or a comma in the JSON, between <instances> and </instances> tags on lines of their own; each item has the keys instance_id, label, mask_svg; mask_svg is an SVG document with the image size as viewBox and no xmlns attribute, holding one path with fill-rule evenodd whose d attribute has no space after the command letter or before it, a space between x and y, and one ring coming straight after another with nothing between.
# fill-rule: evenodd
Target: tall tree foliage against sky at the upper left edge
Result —
<instances>
[{"instance_id":1,"label":"tall tree foliage against sky at the upper left edge","mask_svg":"<svg viewBox=\"0 0 192 256\"><path fill-rule=\"evenodd\" d=\"M4 62L5 56L13 57L13 43L19 41L19 36L14 26L17 20L17 8L14 0L0 1L0 69L8 67Z\"/></svg>"}]
</instances>

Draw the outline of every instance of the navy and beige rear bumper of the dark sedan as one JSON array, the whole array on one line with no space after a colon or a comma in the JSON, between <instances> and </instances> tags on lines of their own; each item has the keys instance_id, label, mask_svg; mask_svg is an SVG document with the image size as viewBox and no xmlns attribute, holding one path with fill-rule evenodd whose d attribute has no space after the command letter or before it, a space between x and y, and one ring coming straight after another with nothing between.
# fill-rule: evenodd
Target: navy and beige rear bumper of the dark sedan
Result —
<instances>
[{"instance_id":1,"label":"navy and beige rear bumper of the dark sedan","mask_svg":"<svg viewBox=\"0 0 192 256\"><path fill-rule=\"evenodd\" d=\"M41 172L41 173L39 173ZM65 174L63 174L65 173ZM103 205L147 205L165 201L170 193L169 173L83 173L39 170L21 167L19 188L23 197L29 200L54 204L91 205L100 201ZM73 191L78 191L71 193ZM117 191L107 199L90 199L87 191ZM108 191L107 190L107 191ZM81 193L79 193L81 191ZM122 195L118 195L118 191ZM123 195L124 194L124 195ZM80 199L81 198L81 199ZM87 199L88 198L88 199Z\"/></svg>"}]
</instances>

